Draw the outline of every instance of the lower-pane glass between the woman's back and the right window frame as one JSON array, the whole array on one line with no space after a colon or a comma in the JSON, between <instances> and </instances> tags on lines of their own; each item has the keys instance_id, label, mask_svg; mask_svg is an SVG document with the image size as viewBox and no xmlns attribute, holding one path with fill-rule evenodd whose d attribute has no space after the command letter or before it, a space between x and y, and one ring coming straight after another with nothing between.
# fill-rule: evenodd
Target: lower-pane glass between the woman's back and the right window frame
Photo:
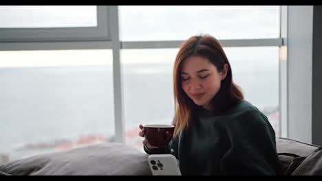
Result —
<instances>
[{"instance_id":1,"label":"lower-pane glass between the woman's back and the right window frame","mask_svg":"<svg viewBox=\"0 0 322 181\"><path fill-rule=\"evenodd\" d=\"M278 136L279 47L226 47L224 51L244 98L266 114Z\"/></svg>"}]
</instances>

